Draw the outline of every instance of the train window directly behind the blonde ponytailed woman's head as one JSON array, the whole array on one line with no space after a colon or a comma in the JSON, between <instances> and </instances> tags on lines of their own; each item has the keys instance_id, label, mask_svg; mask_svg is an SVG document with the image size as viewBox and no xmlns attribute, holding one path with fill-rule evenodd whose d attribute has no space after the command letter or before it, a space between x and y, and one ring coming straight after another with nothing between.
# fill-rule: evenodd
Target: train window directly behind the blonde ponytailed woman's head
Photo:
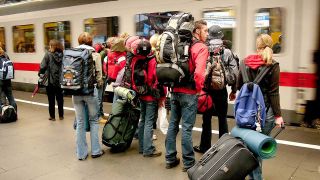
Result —
<instances>
[{"instance_id":1,"label":"train window directly behind the blonde ponytailed woman's head","mask_svg":"<svg viewBox=\"0 0 320 180\"><path fill-rule=\"evenodd\" d=\"M280 7L259 9L255 14L255 33L269 34L273 40L273 53L283 51L284 10ZM255 43L255 42L254 42Z\"/></svg>"}]
</instances>

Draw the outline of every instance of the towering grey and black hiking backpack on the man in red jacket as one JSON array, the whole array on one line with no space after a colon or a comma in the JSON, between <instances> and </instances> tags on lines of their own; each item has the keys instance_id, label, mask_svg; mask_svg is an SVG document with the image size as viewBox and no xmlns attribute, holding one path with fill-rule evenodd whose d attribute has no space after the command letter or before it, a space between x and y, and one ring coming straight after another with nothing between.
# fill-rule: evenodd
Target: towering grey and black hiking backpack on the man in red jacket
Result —
<instances>
[{"instance_id":1,"label":"towering grey and black hiking backpack on the man in red jacket","mask_svg":"<svg viewBox=\"0 0 320 180\"><path fill-rule=\"evenodd\" d=\"M194 18L189 13L173 15L159 39L157 77L160 84L173 87L181 82L190 83L190 47Z\"/></svg>"}]
</instances>

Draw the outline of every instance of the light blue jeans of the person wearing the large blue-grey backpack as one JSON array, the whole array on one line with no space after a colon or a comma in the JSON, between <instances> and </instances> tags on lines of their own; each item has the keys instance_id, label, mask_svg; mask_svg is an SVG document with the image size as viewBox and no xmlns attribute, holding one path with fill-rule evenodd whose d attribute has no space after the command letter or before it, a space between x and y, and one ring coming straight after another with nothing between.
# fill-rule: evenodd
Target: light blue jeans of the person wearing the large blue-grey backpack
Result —
<instances>
[{"instance_id":1,"label":"light blue jeans of the person wearing the large blue-grey backpack","mask_svg":"<svg viewBox=\"0 0 320 180\"><path fill-rule=\"evenodd\" d=\"M90 124L90 140L91 140L91 154L97 155L101 153L101 146L99 144L99 116L98 116L98 103L97 98L93 95L87 96L72 96L74 105L77 129L76 129L76 145L78 159L84 159L88 155L88 145L85 130L85 117L84 108L85 104L89 110L89 124Z\"/></svg>"}]
</instances>

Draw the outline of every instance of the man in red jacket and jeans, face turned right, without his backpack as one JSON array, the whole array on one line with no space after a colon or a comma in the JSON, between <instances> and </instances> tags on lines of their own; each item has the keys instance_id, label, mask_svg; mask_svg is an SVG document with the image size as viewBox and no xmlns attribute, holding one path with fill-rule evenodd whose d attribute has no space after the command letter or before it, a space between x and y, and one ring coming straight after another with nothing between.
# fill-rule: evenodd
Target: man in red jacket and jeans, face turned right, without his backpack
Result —
<instances>
[{"instance_id":1,"label":"man in red jacket and jeans, face turned right, without his backpack","mask_svg":"<svg viewBox=\"0 0 320 180\"><path fill-rule=\"evenodd\" d=\"M190 47L189 72L193 79L189 83L178 84L171 95L171 119L166 137L166 168L170 169L180 163L177 158L176 137L179 122L182 119L182 158L183 171L186 172L195 163L192 148L192 128L197 114L198 97L203 87L204 71L208 58L208 48L204 44L208 37L207 23L203 20L195 22L193 45Z\"/></svg>"}]
</instances>

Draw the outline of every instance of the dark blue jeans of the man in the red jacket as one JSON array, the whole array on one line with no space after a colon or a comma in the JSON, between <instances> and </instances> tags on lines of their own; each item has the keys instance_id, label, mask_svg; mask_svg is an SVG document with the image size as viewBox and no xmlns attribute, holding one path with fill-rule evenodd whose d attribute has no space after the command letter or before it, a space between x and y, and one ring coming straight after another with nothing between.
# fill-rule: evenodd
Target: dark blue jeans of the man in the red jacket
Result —
<instances>
[{"instance_id":1,"label":"dark blue jeans of the man in the red jacket","mask_svg":"<svg viewBox=\"0 0 320 180\"><path fill-rule=\"evenodd\" d=\"M188 169L194 165L192 128L196 120L197 105L198 98L196 95L172 93L171 117L165 142L167 163L173 163L177 158L176 138L179 132L180 119L182 119L181 146L184 168Z\"/></svg>"}]
</instances>

